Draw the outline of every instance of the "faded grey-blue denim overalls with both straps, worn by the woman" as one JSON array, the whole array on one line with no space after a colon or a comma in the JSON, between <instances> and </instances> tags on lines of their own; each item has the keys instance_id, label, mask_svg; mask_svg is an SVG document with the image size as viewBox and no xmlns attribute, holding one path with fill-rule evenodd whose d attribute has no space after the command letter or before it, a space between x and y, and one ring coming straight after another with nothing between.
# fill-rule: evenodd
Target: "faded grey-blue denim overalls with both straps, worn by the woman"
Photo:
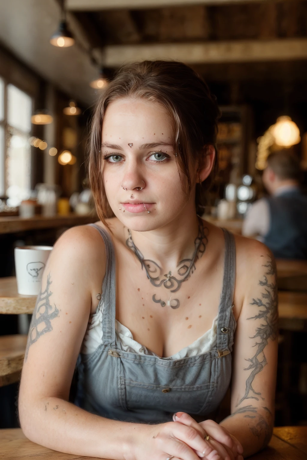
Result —
<instances>
[{"instance_id":1,"label":"faded grey-blue denim overalls with both straps, worn by the woman","mask_svg":"<svg viewBox=\"0 0 307 460\"><path fill-rule=\"evenodd\" d=\"M198 356L161 358L124 351L115 331L116 266L109 233L101 234L106 249L102 286L103 343L91 354L80 354L75 403L114 420L162 423L183 411L199 420L218 408L231 378L232 344L236 321L232 314L236 273L234 237L225 236L225 266L217 322L217 346ZM99 305L97 308L99 308Z\"/></svg>"}]
</instances>

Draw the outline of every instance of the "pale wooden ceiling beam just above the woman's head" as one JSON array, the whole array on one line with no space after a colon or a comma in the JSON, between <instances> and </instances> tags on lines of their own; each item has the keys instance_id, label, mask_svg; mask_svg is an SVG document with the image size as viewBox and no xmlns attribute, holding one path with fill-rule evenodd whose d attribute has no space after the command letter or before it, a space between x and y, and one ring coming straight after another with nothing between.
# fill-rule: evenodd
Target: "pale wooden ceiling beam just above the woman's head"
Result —
<instances>
[{"instance_id":1,"label":"pale wooden ceiling beam just above the woman's head","mask_svg":"<svg viewBox=\"0 0 307 460\"><path fill-rule=\"evenodd\" d=\"M307 39L110 45L102 53L104 65L115 68L143 59L174 59L187 64L285 61L307 59Z\"/></svg>"}]
</instances>

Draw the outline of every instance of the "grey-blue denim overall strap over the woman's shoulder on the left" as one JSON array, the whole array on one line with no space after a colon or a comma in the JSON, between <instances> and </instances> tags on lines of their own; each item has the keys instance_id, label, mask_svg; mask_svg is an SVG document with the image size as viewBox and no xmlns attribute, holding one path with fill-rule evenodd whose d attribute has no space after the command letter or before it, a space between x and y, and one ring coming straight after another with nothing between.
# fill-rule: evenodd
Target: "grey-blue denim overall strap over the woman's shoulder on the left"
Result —
<instances>
[{"instance_id":1,"label":"grey-blue denim overall strap over the woman's shoulder on the left","mask_svg":"<svg viewBox=\"0 0 307 460\"><path fill-rule=\"evenodd\" d=\"M102 330L104 342L110 342L115 346L115 307L116 307L116 261L112 238L107 230L97 224L89 224L94 227L104 240L106 264L105 275L102 283L102 295L99 306L104 303Z\"/></svg>"}]
</instances>

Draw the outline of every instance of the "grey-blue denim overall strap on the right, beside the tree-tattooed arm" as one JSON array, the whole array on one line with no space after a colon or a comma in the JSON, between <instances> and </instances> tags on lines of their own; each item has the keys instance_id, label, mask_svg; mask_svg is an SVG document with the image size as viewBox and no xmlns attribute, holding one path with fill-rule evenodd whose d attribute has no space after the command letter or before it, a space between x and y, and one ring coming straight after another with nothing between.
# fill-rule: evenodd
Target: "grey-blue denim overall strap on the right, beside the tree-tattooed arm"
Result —
<instances>
[{"instance_id":1,"label":"grey-blue denim overall strap on the right, beside the tree-tattooed arm","mask_svg":"<svg viewBox=\"0 0 307 460\"><path fill-rule=\"evenodd\" d=\"M236 243L234 236L228 230L223 229L225 237L225 263L223 288L220 297L219 317L217 322L217 349L219 357L230 353L228 340L233 333L231 315L233 294L236 281Z\"/></svg>"}]
</instances>

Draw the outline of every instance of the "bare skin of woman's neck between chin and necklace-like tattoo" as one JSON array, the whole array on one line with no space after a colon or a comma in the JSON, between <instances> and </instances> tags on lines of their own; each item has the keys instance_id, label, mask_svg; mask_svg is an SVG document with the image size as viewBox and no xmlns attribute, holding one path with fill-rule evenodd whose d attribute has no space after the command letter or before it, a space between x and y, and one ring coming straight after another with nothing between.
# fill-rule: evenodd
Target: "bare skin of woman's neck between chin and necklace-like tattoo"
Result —
<instances>
[{"instance_id":1,"label":"bare skin of woman's neck between chin and necklace-like tattoo","mask_svg":"<svg viewBox=\"0 0 307 460\"><path fill-rule=\"evenodd\" d=\"M132 230L131 236L144 259L154 260L165 270L173 272L181 260L191 258L198 227L195 207L185 207L180 215L163 227L146 232Z\"/></svg>"}]
</instances>

